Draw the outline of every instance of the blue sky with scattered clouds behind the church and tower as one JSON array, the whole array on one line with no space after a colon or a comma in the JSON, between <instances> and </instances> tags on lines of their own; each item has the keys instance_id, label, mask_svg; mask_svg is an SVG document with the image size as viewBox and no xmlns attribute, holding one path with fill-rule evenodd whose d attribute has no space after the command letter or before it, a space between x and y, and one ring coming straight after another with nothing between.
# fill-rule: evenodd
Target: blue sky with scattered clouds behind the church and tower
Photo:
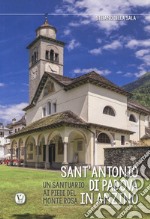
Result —
<instances>
[{"instance_id":1,"label":"blue sky with scattered clouds behind the church and tower","mask_svg":"<svg viewBox=\"0 0 150 219\"><path fill-rule=\"evenodd\" d=\"M0 0L0 120L19 118L28 103L26 46L45 13L66 43L64 75L95 70L122 86L150 71L150 0Z\"/></svg>"}]
</instances>

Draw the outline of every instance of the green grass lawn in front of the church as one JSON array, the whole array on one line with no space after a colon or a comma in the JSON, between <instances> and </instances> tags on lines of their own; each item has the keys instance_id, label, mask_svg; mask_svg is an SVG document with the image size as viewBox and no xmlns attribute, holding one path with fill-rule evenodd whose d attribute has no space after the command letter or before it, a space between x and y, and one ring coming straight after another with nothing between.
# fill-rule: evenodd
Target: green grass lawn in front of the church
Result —
<instances>
[{"instance_id":1,"label":"green grass lawn in front of the church","mask_svg":"<svg viewBox=\"0 0 150 219\"><path fill-rule=\"evenodd\" d=\"M83 192L94 193L94 203L96 203L96 197L100 192L103 196L104 192L107 192L107 188L102 191L102 180L111 180L113 177L101 177L100 191L89 191L89 180L91 178L91 172L87 174L87 177L70 177L62 178L60 171L50 171L50 170L38 170L30 168L18 168L18 167L8 167L0 165L0 219L85 219L84 214L93 206L90 203L87 205L81 205L81 194ZM97 177L96 177L97 178ZM44 205L42 201L43 197L43 182L84 182L84 188L74 188L77 203L74 204L49 204ZM148 187L149 182L144 180L142 191ZM47 190L52 190L51 188L46 188ZM60 189L62 190L62 189ZM66 191L67 189L65 189ZM22 192L26 195L27 201L24 205L17 205L15 203L15 195L18 192ZM140 195L141 190L137 194L139 197L138 203L143 203L147 208L148 202L146 199ZM45 194L46 195L46 194ZM44 195L44 196L45 196ZM46 196L49 197L49 196ZM57 198L62 196L56 196ZM72 197L72 196L67 196ZM62 197L63 199L63 197ZM129 206L129 205L128 205ZM124 207L121 208L120 213ZM137 205L133 205L133 211L139 211ZM149 214L143 212L142 217L144 219L149 219ZM109 212L104 211L106 218L116 218L111 216Z\"/></svg>"}]
</instances>

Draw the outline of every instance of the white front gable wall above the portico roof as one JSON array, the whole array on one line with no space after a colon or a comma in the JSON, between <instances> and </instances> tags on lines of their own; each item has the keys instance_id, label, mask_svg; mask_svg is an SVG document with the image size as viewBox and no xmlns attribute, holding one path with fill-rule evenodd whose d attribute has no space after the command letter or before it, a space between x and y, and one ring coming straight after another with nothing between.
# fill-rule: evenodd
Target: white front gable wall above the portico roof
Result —
<instances>
[{"instance_id":1,"label":"white front gable wall above the portico roof","mask_svg":"<svg viewBox=\"0 0 150 219\"><path fill-rule=\"evenodd\" d=\"M64 91L63 88L56 83L54 86L55 92L45 97L41 94L36 106L27 111L27 125L42 118L42 108L46 106L48 101L57 102L57 112L71 110L79 117L87 121L88 84L69 91Z\"/></svg>"}]
</instances>

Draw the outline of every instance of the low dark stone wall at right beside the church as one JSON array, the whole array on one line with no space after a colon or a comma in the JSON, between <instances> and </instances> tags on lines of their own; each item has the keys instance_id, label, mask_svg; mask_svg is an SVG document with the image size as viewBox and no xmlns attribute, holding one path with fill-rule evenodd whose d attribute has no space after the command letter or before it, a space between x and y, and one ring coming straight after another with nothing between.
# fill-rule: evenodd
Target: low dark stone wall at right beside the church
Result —
<instances>
[{"instance_id":1,"label":"low dark stone wall at right beside the church","mask_svg":"<svg viewBox=\"0 0 150 219\"><path fill-rule=\"evenodd\" d=\"M146 157L143 157L146 154ZM143 158L138 166L139 175L141 174L142 164L146 167L144 174L150 177L150 146L104 148L105 166L133 166ZM148 164L149 162L149 164ZM143 167L144 167L143 166Z\"/></svg>"}]
</instances>

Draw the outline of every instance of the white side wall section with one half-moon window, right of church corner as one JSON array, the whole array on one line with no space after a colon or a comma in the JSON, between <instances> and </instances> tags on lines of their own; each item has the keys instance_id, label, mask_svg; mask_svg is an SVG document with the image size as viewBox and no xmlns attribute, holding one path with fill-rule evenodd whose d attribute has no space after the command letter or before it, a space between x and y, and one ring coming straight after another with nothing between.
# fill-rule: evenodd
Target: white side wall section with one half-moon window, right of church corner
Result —
<instances>
[{"instance_id":1,"label":"white side wall section with one half-moon window, right of church corner","mask_svg":"<svg viewBox=\"0 0 150 219\"><path fill-rule=\"evenodd\" d=\"M89 85L88 121L105 126L127 129L127 97L105 88ZM111 106L116 116L103 114L105 106Z\"/></svg>"}]
</instances>

